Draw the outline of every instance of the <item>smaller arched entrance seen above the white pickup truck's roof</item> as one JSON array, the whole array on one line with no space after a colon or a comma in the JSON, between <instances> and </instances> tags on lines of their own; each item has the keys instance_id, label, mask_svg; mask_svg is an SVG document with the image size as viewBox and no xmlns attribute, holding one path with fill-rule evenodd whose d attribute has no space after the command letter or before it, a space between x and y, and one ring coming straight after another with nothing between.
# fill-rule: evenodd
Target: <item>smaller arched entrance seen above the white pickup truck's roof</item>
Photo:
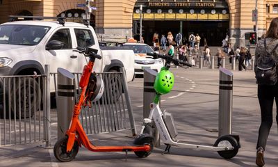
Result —
<instances>
[{"instance_id":1,"label":"smaller arched entrance seen above the white pickup truck's roof","mask_svg":"<svg viewBox=\"0 0 278 167\"><path fill-rule=\"evenodd\" d=\"M81 9L70 9L70 10L65 10L57 17L67 17L67 22L83 22L83 15L85 15L85 10ZM95 15L90 15L90 26L95 28Z\"/></svg>"}]
</instances>

